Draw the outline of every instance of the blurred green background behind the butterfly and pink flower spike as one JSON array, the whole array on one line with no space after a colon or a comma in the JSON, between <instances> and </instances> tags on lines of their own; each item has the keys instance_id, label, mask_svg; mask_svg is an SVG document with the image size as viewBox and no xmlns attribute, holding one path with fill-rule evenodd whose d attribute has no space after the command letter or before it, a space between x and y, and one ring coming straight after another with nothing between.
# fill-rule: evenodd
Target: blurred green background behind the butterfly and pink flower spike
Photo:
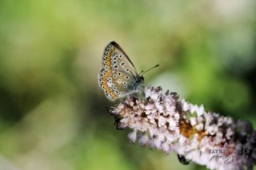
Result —
<instances>
[{"instance_id":1,"label":"blurred green background behind the butterfly and pink flower spike","mask_svg":"<svg viewBox=\"0 0 256 170\"><path fill-rule=\"evenodd\" d=\"M0 1L0 169L205 169L130 144L98 87L118 42L146 85L255 127L256 2Z\"/></svg>"}]
</instances>

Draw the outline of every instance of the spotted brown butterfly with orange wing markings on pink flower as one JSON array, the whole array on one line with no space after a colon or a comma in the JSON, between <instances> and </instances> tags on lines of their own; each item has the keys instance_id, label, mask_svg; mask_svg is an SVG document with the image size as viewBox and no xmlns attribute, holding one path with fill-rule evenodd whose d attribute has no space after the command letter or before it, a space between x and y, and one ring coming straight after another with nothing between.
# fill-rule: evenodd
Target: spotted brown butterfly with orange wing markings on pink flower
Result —
<instances>
[{"instance_id":1,"label":"spotted brown butterfly with orange wing markings on pink flower","mask_svg":"<svg viewBox=\"0 0 256 170\"><path fill-rule=\"evenodd\" d=\"M134 64L118 43L110 42L106 45L102 67L98 73L98 84L110 101L142 89L144 77L138 74Z\"/></svg>"}]
</instances>

